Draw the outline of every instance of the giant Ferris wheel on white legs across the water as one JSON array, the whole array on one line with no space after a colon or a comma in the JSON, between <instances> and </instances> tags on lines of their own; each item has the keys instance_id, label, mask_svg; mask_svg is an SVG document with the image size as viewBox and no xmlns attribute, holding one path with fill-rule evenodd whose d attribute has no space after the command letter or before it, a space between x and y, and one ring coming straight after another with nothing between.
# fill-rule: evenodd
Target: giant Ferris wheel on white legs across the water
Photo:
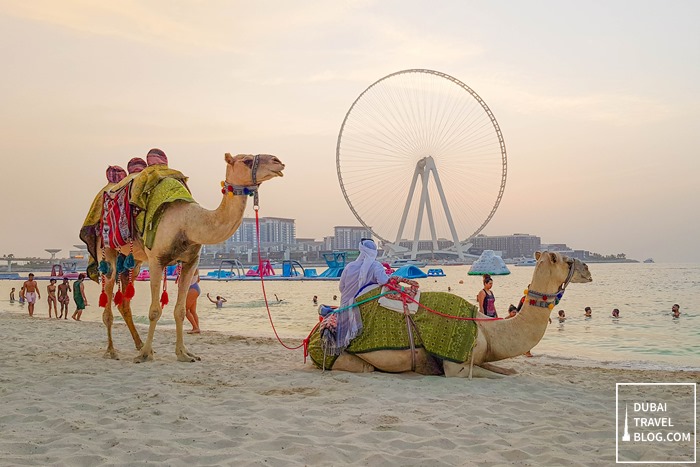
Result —
<instances>
[{"instance_id":1,"label":"giant Ferris wheel on white legs across the water","mask_svg":"<svg viewBox=\"0 0 700 467\"><path fill-rule=\"evenodd\" d=\"M392 255L463 258L465 243L503 197L506 146L493 113L469 86L438 71L403 70L352 103L338 134L336 168L351 211ZM399 246L407 240L410 250Z\"/></svg>"}]
</instances>

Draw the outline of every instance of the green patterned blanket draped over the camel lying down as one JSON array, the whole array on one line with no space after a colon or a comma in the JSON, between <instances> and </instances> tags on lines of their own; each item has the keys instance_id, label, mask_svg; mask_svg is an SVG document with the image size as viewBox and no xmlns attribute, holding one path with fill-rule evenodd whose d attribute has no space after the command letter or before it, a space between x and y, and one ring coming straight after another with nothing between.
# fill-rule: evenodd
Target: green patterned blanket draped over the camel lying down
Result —
<instances>
[{"instance_id":1,"label":"green patterned blanket draped over the camel lying down","mask_svg":"<svg viewBox=\"0 0 700 467\"><path fill-rule=\"evenodd\" d=\"M376 296L379 290L374 289L356 301ZM420 303L431 310L457 317L474 318L477 311L474 305L462 297L447 292L421 292ZM410 349L406 318L402 313L380 306L378 300L371 300L360 305L360 314L364 329L345 349L348 353ZM476 342L477 329L474 321L440 316L423 307L413 315L413 321L419 330L419 333L414 333L416 347L423 347L431 355L443 360L465 362L469 359ZM316 366L323 366L324 355L318 330L309 339L309 356ZM326 369L332 368L334 362L333 355L326 355Z\"/></svg>"}]
</instances>

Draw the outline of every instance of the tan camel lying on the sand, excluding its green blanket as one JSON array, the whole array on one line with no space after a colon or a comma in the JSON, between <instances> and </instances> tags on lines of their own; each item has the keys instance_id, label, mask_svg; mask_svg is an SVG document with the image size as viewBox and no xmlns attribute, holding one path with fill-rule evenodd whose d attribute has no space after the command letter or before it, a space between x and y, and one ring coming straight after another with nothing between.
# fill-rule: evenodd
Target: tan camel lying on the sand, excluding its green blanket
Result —
<instances>
[{"instance_id":1,"label":"tan camel lying on the sand, excluding its green blanket","mask_svg":"<svg viewBox=\"0 0 700 467\"><path fill-rule=\"evenodd\" d=\"M512 374L512 370L490 365L489 362L504 360L532 349L542 339L549 322L551 307L569 282L591 282L588 266L578 259L570 259L559 253L537 252L537 264L523 307L514 318L507 320L476 321L476 341L467 361L456 363L442 360L445 376L493 377L494 373ZM427 294L426 294L427 295ZM451 295L451 294L450 294ZM477 312L477 317L485 315ZM365 327L364 333L372 333ZM332 365L333 370L368 372L375 369L391 373L415 371L435 374L435 357L424 348L415 350L373 350L365 353L343 352ZM477 366L474 371L474 366Z\"/></svg>"}]
</instances>

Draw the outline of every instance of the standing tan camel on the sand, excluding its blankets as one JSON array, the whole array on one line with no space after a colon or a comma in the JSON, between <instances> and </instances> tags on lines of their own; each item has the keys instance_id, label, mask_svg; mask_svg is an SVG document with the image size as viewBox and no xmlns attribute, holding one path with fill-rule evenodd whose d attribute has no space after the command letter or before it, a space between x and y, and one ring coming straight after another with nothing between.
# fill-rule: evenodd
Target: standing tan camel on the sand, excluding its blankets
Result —
<instances>
[{"instance_id":1,"label":"standing tan camel on the sand, excluding its blankets","mask_svg":"<svg viewBox=\"0 0 700 467\"><path fill-rule=\"evenodd\" d=\"M222 182L223 199L217 209L209 211L196 202L171 202L163 208L152 247L147 248L144 240L138 235L134 239L135 267L131 274L135 277L141 263L147 261L151 275L151 305L148 311L150 325L145 344L142 344L134 327L130 301L123 300L118 308L131 331L136 349L140 351L134 359L136 363L153 360L153 334L163 312L159 299L163 269L178 261L182 264L182 272L177 284L178 294L174 310L177 332L175 354L182 362L200 360L198 356L187 350L183 339L185 301L190 282L199 264L200 249L202 245L220 243L233 235L241 225L249 195L256 192L260 183L283 176L284 164L277 157L269 154L231 156L227 153L224 159L227 163L226 179ZM100 257L102 250L102 244L97 236L97 245L93 251L96 251L97 257ZM105 276L104 289L107 305L102 314L102 321L107 327L106 358L118 358L112 342L112 292L117 275L115 273L117 256L119 253L128 255L129 252L128 246L121 247L119 250L104 249L104 260L111 264L110 274ZM120 280L125 284L128 282L128 275L122 274Z\"/></svg>"}]
</instances>

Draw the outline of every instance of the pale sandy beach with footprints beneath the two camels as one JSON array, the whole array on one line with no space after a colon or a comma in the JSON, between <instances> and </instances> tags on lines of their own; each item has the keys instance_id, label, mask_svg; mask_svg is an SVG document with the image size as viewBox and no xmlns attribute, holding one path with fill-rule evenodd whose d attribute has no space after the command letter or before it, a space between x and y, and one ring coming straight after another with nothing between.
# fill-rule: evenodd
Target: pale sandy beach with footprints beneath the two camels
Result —
<instances>
[{"instance_id":1,"label":"pale sandy beach with footprints beneath the two camels","mask_svg":"<svg viewBox=\"0 0 700 467\"><path fill-rule=\"evenodd\" d=\"M610 465L615 383L700 377L522 357L498 380L322 373L276 340L216 332L186 336L202 361L185 364L168 329L137 365L123 324L115 361L99 323L0 323L2 465Z\"/></svg>"}]
</instances>

